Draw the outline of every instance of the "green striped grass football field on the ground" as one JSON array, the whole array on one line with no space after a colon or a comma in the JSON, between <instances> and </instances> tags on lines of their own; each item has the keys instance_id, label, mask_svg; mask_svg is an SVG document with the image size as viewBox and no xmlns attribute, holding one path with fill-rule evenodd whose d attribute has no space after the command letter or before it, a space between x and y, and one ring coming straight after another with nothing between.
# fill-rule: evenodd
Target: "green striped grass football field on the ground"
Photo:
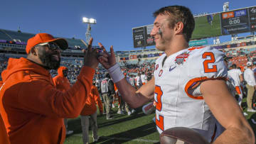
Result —
<instances>
[{"instance_id":1,"label":"green striped grass football field on the ground","mask_svg":"<svg viewBox=\"0 0 256 144\"><path fill-rule=\"evenodd\" d=\"M245 109L246 98L243 99L242 106ZM106 120L106 116L97 117L98 135L100 140L97 143L159 143L159 133L156 131L155 123L152 121L154 113L146 116L142 112L142 108L137 109L137 113L132 116L127 114L117 114L117 108L113 109L114 118ZM248 113L247 121L252 126L256 133L256 124L252 123L252 119L256 121L256 113ZM65 144L82 143L82 129L80 118L69 119L68 129L73 130L74 133L68 135ZM90 143L92 143L92 131L90 131Z\"/></svg>"}]
</instances>

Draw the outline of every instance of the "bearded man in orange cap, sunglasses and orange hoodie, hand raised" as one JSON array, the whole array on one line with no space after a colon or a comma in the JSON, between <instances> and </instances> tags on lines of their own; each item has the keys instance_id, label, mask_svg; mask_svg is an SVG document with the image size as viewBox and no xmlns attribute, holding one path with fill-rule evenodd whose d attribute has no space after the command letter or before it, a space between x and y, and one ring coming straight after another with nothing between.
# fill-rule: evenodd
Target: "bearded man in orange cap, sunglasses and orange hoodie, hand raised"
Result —
<instances>
[{"instance_id":1,"label":"bearded man in orange cap, sunglasses and orange hoodie, hand raised","mask_svg":"<svg viewBox=\"0 0 256 144\"><path fill-rule=\"evenodd\" d=\"M49 72L60 65L60 51L68 48L65 39L38 33L28 39L27 58L9 58L1 73L0 112L11 143L64 143L63 118L79 116L99 63L91 45L92 38L78 80L66 92L55 88Z\"/></svg>"}]
</instances>

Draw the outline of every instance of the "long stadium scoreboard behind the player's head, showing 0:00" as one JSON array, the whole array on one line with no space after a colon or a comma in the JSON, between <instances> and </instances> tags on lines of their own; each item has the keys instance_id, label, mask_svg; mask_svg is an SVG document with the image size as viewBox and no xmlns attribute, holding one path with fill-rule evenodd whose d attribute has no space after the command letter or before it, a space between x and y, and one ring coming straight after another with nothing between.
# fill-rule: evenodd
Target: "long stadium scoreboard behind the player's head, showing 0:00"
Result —
<instances>
[{"instance_id":1,"label":"long stadium scoreboard behind the player's head, showing 0:00","mask_svg":"<svg viewBox=\"0 0 256 144\"><path fill-rule=\"evenodd\" d=\"M256 6L195 16L191 40L256 31ZM153 25L132 28L134 48L155 45L150 36Z\"/></svg>"}]
</instances>

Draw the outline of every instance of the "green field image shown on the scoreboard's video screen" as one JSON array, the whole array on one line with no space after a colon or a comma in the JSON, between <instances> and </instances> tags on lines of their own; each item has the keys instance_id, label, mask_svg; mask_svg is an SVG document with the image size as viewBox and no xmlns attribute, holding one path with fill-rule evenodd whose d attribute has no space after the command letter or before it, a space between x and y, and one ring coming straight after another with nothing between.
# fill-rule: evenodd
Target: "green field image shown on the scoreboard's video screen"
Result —
<instances>
[{"instance_id":1,"label":"green field image shown on the scoreboard's video screen","mask_svg":"<svg viewBox=\"0 0 256 144\"><path fill-rule=\"evenodd\" d=\"M207 16L195 18L195 29L192 34L193 39L210 38L221 35L220 14L213 15L213 23L210 25L207 21Z\"/></svg>"}]
</instances>

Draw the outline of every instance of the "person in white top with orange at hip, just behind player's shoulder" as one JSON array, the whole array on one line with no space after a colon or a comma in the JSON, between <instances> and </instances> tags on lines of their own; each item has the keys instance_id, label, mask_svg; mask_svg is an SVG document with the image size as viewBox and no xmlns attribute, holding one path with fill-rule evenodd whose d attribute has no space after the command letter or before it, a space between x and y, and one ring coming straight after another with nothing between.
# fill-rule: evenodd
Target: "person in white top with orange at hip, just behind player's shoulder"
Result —
<instances>
[{"instance_id":1,"label":"person in white top with orange at hip, just behind player's shoulder","mask_svg":"<svg viewBox=\"0 0 256 144\"><path fill-rule=\"evenodd\" d=\"M235 91L239 95L238 104L241 106L242 104L242 89L240 87L240 83L243 81L241 70L237 69L237 66L233 64L231 66L231 70L228 71L228 75L234 79L234 87Z\"/></svg>"}]
</instances>

